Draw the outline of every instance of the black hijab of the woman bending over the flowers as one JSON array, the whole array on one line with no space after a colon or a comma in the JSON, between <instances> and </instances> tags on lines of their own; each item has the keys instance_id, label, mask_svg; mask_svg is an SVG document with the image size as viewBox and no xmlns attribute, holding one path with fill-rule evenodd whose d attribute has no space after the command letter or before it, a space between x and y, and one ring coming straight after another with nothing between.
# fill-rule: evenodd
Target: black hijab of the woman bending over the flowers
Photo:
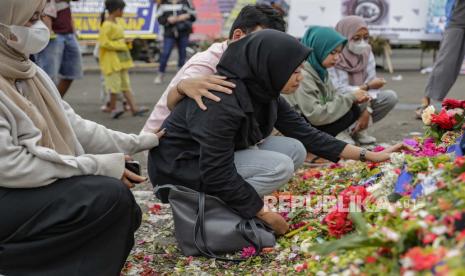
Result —
<instances>
[{"instance_id":1,"label":"black hijab of the woman bending over the flowers","mask_svg":"<svg viewBox=\"0 0 465 276\"><path fill-rule=\"evenodd\" d=\"M240 148L271 134L281 90L309 54L296 38L275 30L258 31L228 46L217 70L236 83L234 95L248 116Z\"/></svg>"}]
</instances>

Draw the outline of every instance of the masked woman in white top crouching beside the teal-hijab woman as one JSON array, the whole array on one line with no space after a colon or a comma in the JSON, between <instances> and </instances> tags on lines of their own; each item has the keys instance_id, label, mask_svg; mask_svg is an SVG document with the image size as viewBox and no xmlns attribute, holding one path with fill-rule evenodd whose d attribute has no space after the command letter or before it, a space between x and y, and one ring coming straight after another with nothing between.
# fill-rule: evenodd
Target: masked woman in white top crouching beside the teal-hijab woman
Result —
<instances>
[{"instance_id":1,"label":"masked woman in white top crouching beside the teal-hijab woman","mask_svg":"<svg viewBox=\"0 0 465 276\"><path fill-rule=\"evenodd\" d=\"M383 119L397 104L397 94L381 90L386 81L376 77L375 56L368 44L368 26L359 16L348 16L336 25L336 31L347 37L348 45L342 50L334 68L328 70L334 87L341 94L357 90L368 91L371 100L361 106L362 113L353 129L352 137L360 144L371 144L376 138L367 134L372 122Z\"/></svg>"}]
</instances>

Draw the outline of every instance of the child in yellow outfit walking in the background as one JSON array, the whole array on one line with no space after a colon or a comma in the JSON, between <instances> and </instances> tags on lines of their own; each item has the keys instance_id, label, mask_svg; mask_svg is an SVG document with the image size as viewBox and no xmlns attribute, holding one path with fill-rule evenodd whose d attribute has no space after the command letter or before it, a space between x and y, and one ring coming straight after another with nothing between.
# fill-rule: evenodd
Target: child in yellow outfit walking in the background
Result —
<instances>
[{"instance_id":1,"label":"child in yellow outfit walking in the background","mask_svg":"<svg viewBox=\"0 0 465 276\"><path fill-rule=\"evenodd\" d=\"M102 13L102 26L99 34L99 63L105 82L105 90L110 93L108 111L114 119L124 113L124 109L117 110L118 96L122 93L134 116L144 115L148 109L139 109L131 92L131 82L128 69L134 67L129 47L124 38L124 28L117 22L123 16L126 3L123 0L106 0L105 11L108 17L105 20L105 11Z\"/></svg>"}]
</instances>

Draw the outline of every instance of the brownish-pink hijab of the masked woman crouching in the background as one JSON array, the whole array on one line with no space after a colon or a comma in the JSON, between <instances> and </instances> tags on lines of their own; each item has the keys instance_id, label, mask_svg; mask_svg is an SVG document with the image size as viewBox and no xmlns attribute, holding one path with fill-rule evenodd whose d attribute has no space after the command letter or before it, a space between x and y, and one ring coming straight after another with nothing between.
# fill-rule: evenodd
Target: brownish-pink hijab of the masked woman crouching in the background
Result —
<instances>
[{"instance_id":1,"label":"brownish-pink hijab of the masked woman crouching in the background","mask_svg":"<svg viewBox=\"0 0 465 276\"><path fill-rule=\"evenodd\" d=\"M347 16L340 20L336 25L336 31L343 36L347 37L348 43L352 37L361 29L368 29L368 25L360 16ZM370 57L371 48L367 49L365 53L356 55L349 50L349 47L344 47L340 55L336 68L346 71L349 74L350 85L362 85L368 76L367 66Z\"/></svg>"}]
</instances>

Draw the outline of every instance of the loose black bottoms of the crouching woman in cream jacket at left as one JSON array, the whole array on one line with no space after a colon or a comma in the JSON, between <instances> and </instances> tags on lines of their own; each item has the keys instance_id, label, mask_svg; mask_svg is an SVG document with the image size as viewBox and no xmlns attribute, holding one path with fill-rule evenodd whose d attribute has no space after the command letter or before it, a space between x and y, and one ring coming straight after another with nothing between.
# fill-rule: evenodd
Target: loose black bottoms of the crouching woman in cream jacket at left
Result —
<instances>
[{"instance_id":1,"label":"loose black bottoms of the crouching woman in cream jacket at left","mask_svg":"<svg viewBox=\"0 0 465 276\"><path fill-rule=\"evenodd\" d=\"M118 179L0 188L0 274L119 275L141 211Z\"/></svg>"}]
</instances>

